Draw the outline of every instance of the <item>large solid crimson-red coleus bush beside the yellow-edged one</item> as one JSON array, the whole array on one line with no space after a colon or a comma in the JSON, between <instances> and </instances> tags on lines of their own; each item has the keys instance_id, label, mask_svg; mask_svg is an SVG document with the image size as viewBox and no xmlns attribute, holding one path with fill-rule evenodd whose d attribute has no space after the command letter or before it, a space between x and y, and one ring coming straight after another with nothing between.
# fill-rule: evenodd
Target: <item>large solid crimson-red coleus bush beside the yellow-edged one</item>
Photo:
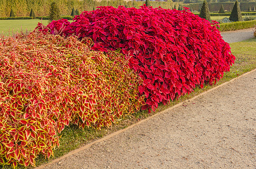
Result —
<instances>
[{"instance_id":1,"label":"large solid crimson-red coleus bush beside the yellow-edged one","mask_svg":"<svg viewBox=\"0 0 256 169\"><path fill-rule=\"evenodd\" d=\"M121 48L132 56L130 68L143 79L139 86L140 94L146 95L143 109L155 110L158 103L190 93L195 86L215 83L235 59L216 25L187 9L99 7L82 12L72 23L53 21L48 29L53 34L89 37L95 43L93 50Z\"/></svg>"}]
</instances>

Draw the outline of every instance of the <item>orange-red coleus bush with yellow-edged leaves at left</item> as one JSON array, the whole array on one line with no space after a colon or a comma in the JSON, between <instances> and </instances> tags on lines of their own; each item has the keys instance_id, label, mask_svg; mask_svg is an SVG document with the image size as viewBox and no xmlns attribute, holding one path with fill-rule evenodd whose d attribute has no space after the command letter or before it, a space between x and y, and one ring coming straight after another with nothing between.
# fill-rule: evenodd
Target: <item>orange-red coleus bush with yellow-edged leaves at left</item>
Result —
<instances>
[{"instance_id":1,"label":"orange-red coleus bush with yellow-edged leaves at left","mask_svg":"<svg viewBox=\"0 0 256 169\"><path fill-rule=\"evenodd\" d=\"M70 122L110 126L144 104L125 56L82 42L38 32L0 38L0 164L35 166Z\"/></svg>"}]
</instances>

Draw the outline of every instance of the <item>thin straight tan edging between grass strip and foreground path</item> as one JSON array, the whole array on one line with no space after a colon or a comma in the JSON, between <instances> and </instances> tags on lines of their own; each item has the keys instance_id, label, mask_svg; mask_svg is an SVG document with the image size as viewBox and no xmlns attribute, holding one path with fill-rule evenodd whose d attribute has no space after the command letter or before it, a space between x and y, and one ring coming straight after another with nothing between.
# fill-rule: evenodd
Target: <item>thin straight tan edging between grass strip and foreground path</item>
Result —
<instances>
[{"instance_id":1,"label":"thin straight tan edging between grass strip and foreground path","mask_svg":"<svg viewBox=\"0 0 256 169\"><path fill-rule=\"evenodd\" d=\"M157 117L157 116L159 116L159 115L161 115L161 114L164 114L164 113L166 113L166 112L169 112L170 110L172 110L172 109L174 109L174 108L177 108L178 106L183 105L186 101L193 101L193 100L197 99L198 97L200 97L200 96L202 96L202 95L208 94L208 92L214 91L214 90L216 90L216 89L219 88L219 87L225 86L225 85L227 85L227 84L229 84L229 83L231 83L231 82L233 82L233 81L236 81L237 79L240 79L240 78L242 78L242 77L244 77L244 76L246 76L246 75L248 75L248 74L250 74L250 73L253 73L253 72L255 72L255 71L256 71L256 69L253 69L253 70L251 70L250 72L244 73L244 74L242 74L242 75L240 75L240 76L238 76L238 77L236 77L236 78L231 79L231 80L228 81L228 82L222 83L222 84L220 84L219 86L216 86L216 87L214 87L214 88L211 88L210 90L204 91L204 92L202 92L201 94L199 94L199 95L197 95L197 96L194 96L194 97L192 97L192 98L190 98L190 99L184 100L184 101L182 101L181 103L178 103L178 104L176 104L176 105L174 105L174 106L172 106L172 107L170 107L170 108L168 108L168 109L165 109L165 110L163 110L163 111L161 111L161 112L159 112L159 113L156 113L156 114L152 115L151 117L148 117L148 118L146 118L146 119L143 119L142 121L139 121L139 122L137 122L137 123L135 123L135 124L132 124L131 126L128 126L128 127L123 128L123 129L121 129L121 130L118 130L118 131L116 131L116 132L113 132L113 133L110 134L110 135L107 135L107 136L105 136L105 137L103 137L103 138L101 138L101 139L99 139L99 140L93 141L92 143L89 143L89 144L87 144L87 145L84 145L84 146L82 146L82 147L80 147L80 148L78 148L78 149L72 150L71 152L69 152L69 153L63 155L62 157L59 157L59 158L57 158L57 159L54 159L52 162L49 162L49 163L46 163L46 164L41 165L41 166L39 166L39 167L36 167L35 169L41 169L41 168L44 168L44 167L46 167L46 166L49 166L50 164L59 162L59 161L61 161L62 159L65 159L65 158L67 158L67 157L70 157L71 155L74 155L74 154L76 154L76 153L82 151L82 150L85 150L85 149L87 149L87 148L90 148L92 145L94 145L94 144L96 144L96 143L100 143L101 141L108 140L108 139L110 139L110 138L113 137L113 136L116 136L116 135L121 134L122 132L124 132L124 131L126 131L126 130L129 130L130 128L133 128L133 127L135 127L135 126L138 126L140 123L144 123L144 122L146 122L146 121L148 121L148 120L150 120L150 119L152 119L152 118L154 118L154 117Z\"/></svg>"}]
</instances>

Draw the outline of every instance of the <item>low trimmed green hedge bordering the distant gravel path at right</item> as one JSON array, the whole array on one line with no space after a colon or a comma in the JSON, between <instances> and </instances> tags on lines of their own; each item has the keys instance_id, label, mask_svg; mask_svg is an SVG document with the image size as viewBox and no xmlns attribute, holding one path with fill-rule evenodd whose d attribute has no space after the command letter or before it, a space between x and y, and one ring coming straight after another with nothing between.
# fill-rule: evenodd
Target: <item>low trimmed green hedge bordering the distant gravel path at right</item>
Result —
<instances>
[{"instance_id":1,"label":"low trimmed green hedge bordering the distant gravel path at right","mask_svg":"<svg viewBox=\"0 0 256 169\"><path fill-rule=\"evenodd\" d=\"M220 28L218 29L220 30L220 32L229 31L229 30L247 29L247 28L253 28L256 25L256 20L223 23L219 25L220 25Z\"/></svg>"}]
</instances>

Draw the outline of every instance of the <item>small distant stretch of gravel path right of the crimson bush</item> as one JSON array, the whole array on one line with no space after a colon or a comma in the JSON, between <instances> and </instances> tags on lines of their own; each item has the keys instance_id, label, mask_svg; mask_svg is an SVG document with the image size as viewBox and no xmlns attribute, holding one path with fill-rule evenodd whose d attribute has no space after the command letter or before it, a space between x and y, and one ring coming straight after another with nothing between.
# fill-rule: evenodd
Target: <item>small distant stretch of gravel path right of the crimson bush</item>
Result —
<instances>
[{"instance_id":1,"label":"small distant stretch of gravel path right of the crimson bush","mask_svg":"<svg viewBox=\"0 0 256 169\"><path fill-rule=\"evenodd\" d=\"M233 43L245 41L246 39L253 38L253 32L255 28L242 29L242 30L234 30L228 32L222 32L221 36L223 37L225 42Z\"/></svg>"}]
</instances>

